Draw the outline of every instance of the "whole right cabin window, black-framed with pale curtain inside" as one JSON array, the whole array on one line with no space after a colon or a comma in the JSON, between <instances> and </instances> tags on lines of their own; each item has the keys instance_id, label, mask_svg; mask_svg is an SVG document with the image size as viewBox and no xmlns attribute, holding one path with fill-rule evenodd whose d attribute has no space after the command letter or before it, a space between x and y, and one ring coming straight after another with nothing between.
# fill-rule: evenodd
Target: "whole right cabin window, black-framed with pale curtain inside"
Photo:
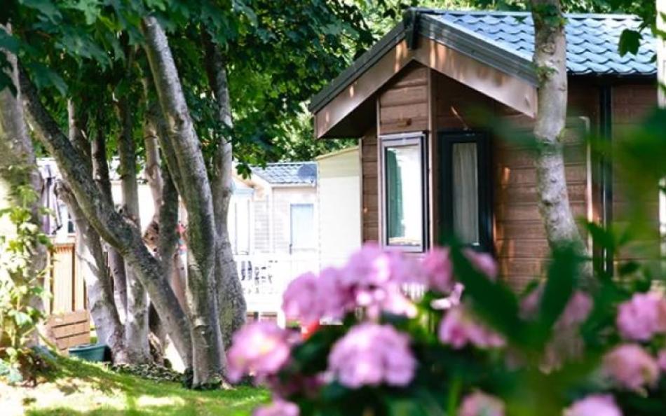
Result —
<instances>
[{"instance_id":1,"label":"whole right cabin window, black-framed with pale curtain inside","mask_svg":"<svg viewBox=\"0 0 666 416\"><path fill-rule=\"evenodd\" d=\"M440 137L442 225L471 247L491 250L491 178L485 134L446 133Z\"/></svg>"}]
</instances>

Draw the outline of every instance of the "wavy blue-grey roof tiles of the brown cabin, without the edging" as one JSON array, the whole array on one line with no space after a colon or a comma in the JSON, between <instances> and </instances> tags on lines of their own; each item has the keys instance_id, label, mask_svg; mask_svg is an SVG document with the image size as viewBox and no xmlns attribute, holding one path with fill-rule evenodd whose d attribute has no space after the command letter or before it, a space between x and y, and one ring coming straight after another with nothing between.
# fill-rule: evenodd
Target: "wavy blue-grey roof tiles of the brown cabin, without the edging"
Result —
<instances>
[{"instance_id":1,"label":"wavy blue-grey roof tiles of the brown cabin, without the edging","mask_svg":"<svg viewBox=\"0 0 666 416\"><path fill-rule=\"evenodd\" d=\"M534 24L530 13L458 12L428 10L428 18L457 25L496 43L511 53L531 60L534 53ZM639 29L633 15L566 15L567 67L571 74L651 75L656 41L644 30L637 55L620 57L618 43L624 29Z\"/></svg>"}]
</instances>

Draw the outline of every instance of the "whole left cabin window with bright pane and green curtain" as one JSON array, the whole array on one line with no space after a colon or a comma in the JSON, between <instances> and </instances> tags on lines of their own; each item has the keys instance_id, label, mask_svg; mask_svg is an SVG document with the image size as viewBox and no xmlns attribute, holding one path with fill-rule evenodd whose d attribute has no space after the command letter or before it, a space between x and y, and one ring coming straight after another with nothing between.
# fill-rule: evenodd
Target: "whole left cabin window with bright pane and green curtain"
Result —
<instances>
[{"instance_id":1,"label":"whole left cabin window with bright pane and green curtain","mask_svg":"<svg viewBox=\"0 0 666 416\"><path fill-rule=\"evenodd\" d=\"M426 240L423 134L381 137L383 244L423 251Z\"/></svg>"}]
</instances>

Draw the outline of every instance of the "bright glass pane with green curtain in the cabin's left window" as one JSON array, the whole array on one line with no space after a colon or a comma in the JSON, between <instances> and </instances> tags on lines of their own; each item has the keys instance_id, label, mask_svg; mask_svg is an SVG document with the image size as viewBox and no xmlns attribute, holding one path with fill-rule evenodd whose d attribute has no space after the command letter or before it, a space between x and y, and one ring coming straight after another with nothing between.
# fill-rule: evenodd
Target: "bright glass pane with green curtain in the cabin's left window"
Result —
<instances>
[{"instance_id":1,"label":"bright glass pane with green curtain in the cabin's left window","mask_svg":"<svg viewBox=\"0 0 666 416\"><path fill-rule=\"evenodd\" d=\"M386 228L389 245L419 247L423 195L419 145L386 149Z\"/></svg>"}]
</instances>

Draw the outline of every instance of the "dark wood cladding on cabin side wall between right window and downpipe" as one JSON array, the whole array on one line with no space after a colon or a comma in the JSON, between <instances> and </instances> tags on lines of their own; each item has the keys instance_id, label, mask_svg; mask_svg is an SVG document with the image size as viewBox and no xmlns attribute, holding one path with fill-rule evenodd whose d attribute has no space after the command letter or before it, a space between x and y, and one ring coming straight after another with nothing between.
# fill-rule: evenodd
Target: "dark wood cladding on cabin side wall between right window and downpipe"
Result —
<instances>
[{"instance_id":1,"label":"dark wood cladding on cabin side wall between right window and downpipe","mask_svg":"<svg viewBox=\"0 0 666 416\"><path fill-rule=\"evenodd\" d=\"M531 130L534 120L440 74L435 74L438 130L491 130L492 118ZM570 94L574 117L596 118L597 92L578 85ZM578 123L581 124L581 123ZM580 126L578 126L580 127ZM586 217L590 202L587 151L580 129L567 131L564 148L567 186L573 214ZM521 287L543 275L548 241L538 211L534 155L517 141L494 137L492 144L494 250L502 277ZM435 190L436 192L436 190Z\"/></svg>"}]
</instances>

